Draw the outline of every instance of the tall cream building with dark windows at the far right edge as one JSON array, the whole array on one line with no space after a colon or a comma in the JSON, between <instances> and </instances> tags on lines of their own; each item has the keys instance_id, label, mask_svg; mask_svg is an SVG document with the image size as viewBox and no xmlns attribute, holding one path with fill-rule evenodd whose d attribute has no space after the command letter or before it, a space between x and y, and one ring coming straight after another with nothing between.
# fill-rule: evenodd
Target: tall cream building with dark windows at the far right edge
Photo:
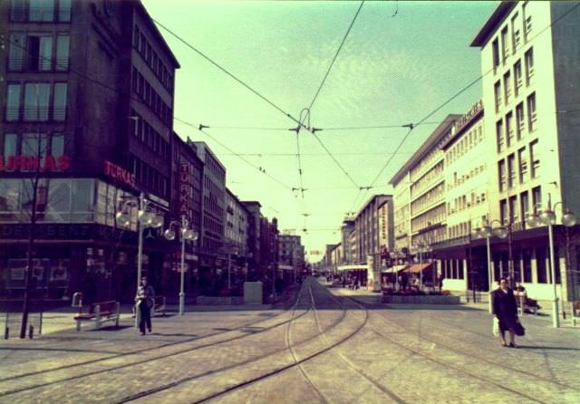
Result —
<instances>
[{"instance_id":1,"label":"tall cream building with dark windows at the far right edge","mask_svg":"<svg viewBox=\"0 0 580 404\"><path fill-rule=\"evenodd\" d=\"M492 245L495 277L511 273L538 298L550 297L554 282L564 299L579 293L578 229L560 225L566 209L580 214L580 67L570 57L580 49L577 5L502 2L471 43L481 49L484 121L493 135L489 219L511 229L510 243ZM555 280L546 226L530 229L524 220L549 203L558 204Z\"/></svg>"}]
</instances>

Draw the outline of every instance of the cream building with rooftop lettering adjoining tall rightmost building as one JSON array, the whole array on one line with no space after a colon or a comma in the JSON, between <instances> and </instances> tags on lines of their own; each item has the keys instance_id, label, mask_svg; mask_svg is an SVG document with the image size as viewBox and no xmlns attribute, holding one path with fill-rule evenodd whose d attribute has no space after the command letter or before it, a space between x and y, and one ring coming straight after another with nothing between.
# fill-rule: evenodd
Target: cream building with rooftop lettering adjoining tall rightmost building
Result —
<instances>
[{"instance_id":1,"label":"cream building with rooftop lettering adjoining tall rightmost building","mask_svg":"<svg viewBox=\"0 0 580 404\"><path fill-rule=\"evenodd\" d=\"M465 290L476 282L480 290L488 287L486 255L470 250L475 245L473 231L482 226L489 211L488 156L493 150L483 116L483 104L478 101L455 122L440 145L445 164L447 236L430 246L438 257L445 287L451 290Z\"/></svg>"}]
</instances>

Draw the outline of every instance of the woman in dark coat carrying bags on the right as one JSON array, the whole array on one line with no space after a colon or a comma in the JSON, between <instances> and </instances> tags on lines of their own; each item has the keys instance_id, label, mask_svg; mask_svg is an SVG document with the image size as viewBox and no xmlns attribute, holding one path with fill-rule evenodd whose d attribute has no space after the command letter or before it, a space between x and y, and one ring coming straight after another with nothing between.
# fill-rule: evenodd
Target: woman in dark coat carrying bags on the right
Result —
<instances>
[{"instance_id":1,"label":"woman in dark coat carrying bags on the right","mask_svg":"<svg viewBox=\"0 0 580 404\"><path fill-rule=\"evenodd\" d=\"M501 337L501 346L517 348L516 329L521 327L517 319L517 303L514 291L507 285L507 279L499 279L499 287L491 293L491 302L493 315L496 316L499 323L499 336ZM509 332L509 345L506 343L505 332Z\"/></svg>"}]
</instances>

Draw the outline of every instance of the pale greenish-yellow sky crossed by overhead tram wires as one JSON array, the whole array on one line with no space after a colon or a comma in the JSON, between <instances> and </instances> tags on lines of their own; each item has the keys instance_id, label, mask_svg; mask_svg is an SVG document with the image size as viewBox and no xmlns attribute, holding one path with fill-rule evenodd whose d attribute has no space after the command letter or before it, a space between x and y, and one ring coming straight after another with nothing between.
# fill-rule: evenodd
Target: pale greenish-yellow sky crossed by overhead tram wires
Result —
<instances>
[{"instance_id":1,"label":"pale greenish-yellow sky crossed by overhead tram wires","mask_svg":"<svg viewBox=\"0 0 580 404\"><path fill-rule=\"evenodd\" d=\"M159 26L181 65L174 130L208 143L227 168L227 188L302 236L310 262L340 241L344 216L392 193L392 176L441 120L480 99L476 82L425 124L402 127L480 76L479 49L469 43L498 5L365 2L305 120L322 129L314 136L289 129L313 102L361 2L142 1L185 42ZM337 129L376 126L392 128Z\"/></svg>"}]
</instances>

